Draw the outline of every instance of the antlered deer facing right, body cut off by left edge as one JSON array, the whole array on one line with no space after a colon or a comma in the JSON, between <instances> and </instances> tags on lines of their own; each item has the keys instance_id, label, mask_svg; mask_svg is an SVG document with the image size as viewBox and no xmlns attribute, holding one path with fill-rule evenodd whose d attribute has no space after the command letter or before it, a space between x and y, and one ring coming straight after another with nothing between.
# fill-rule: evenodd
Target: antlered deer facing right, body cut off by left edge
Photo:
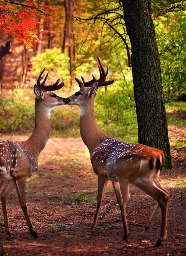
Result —
<instances>
[{"instance_id":1,"label":"antlered deer facing right, body cut off by left edge","mask_svg":"<svg viewBox=\"0 0 186 256\"><path fill-rule=\"evenodd\" d=\"M50 132L50 111L59 105L63 105L64 98L58 97L52 91L64 86L59 84L60 79L52 85L45 85L48 73L43 79L45 68L39 74L37 83L34 85L35 99L35 128L32 135L25 141L10 141L0 138L0 193L3 209L5 232L11 237L7 215L7 196L15 187L21 209L30 229L31 235L37 238L32 222L29 217L25 185L26 180L38 169L38 157L44 149Z\"/></svg>"}]
</instances>

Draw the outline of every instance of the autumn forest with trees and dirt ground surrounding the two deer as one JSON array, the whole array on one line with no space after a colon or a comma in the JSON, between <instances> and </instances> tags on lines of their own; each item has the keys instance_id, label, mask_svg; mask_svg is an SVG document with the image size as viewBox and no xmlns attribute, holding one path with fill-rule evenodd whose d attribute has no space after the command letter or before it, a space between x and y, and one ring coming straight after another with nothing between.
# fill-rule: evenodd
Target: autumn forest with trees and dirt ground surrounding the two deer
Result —
<instances>
[{"instance_id":1,"label":"autumn forest with trees and dirt ground surrounding the two deer","mask_svg":"<svg viewBox=\"0 0 186 256\"><path fill-rule=\"evenodd\" d=\"M98 227L91 233L97 177L81 139L80 109L65 105L51 111L50 136L38 160L39 170L26 183L29 214L39 239L28 234L14 190L7 205L13 239L5 239L0 213L4 255L10 255L10 248L11 255L28 256L185 255L186 1L131 2L0 0L0 132L13 141L31 136L35 128L33 87L41 69L49 72L47 84L58 78L65 82L56 94L68 98L80 89L75 77L89 81L93 74L99 79L99 57L109 68L107 80L114 80L99 87L95 97L101 131L165 153L159 179L169 192L167 239L152 249L161 226L160 211L148 233L141 235L155 201L132 186L126 207L130 236L126 243L122 241L112 183L105 189ZM144 20L138 2L145 8ZM3 54L7 42L10 47ZM143 51L149 51L148 58Z\"/></svg>"}]
</instances>

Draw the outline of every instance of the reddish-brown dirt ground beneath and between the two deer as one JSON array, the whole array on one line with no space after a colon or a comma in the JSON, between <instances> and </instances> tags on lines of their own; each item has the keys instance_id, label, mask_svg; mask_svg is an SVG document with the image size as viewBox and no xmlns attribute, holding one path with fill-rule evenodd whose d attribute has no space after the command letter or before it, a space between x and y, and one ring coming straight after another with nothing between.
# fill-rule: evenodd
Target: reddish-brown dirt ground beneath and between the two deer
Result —
<instances>
[{"instance_id":1,"label":"reddish-brown dirt ground beneath and between the two deer","mask_svg":"<svg viewBox=\"0 0 186 256\"><path fill-rule=\"evenodd\" d=\"M3 137L21 141L28 136ZM186 127L169 126L169 138L170 141L186 139ZM81 138L51 136L40 155L39 171L26 186L29 214L39 238L30 235L13 190L7 207L11 238L4 231L0 207L0 242L4 255L186 255L186 147L171 147L171 153L173 169L163 170L160 176L170 195L167 239L154 248L160 234L161 212L149 230L141 234L156 201L133 186L126 207L129 238L122 240L120 209L111 183L97 229L91 232L97 204L97 176L92 171L88 149Z\"/></svg>"}]
</instances>

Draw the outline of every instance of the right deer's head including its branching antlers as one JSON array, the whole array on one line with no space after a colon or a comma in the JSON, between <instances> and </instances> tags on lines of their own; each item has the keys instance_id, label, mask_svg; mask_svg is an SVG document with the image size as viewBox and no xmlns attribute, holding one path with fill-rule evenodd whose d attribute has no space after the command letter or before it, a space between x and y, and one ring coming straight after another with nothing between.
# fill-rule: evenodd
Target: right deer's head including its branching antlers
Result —
<instances>
[{"instance_id":1,"label":"right deer's head including its branching antlers","mask_svg":"<svg viewBox=\"0 0 186 256\"><path fill-rule=\"evenodd\" d=\"M99 63L98 68L100 71L100 78L97 80L96 77L92 75L93 79L88 82L85 82L83 77L81 77L82 80L78 79L78 77L75 77L75 80L80 87L80 91L64 99L65 104L79 106L81 106L82 104L84 105L86 104L86 102L92 99L92 97L95 97L98 87L110 85L113 83L114 80L105 81L109 69L108 67L104 67L99 57L97 57L97 59Z\"/></svg>"}]
</instances>

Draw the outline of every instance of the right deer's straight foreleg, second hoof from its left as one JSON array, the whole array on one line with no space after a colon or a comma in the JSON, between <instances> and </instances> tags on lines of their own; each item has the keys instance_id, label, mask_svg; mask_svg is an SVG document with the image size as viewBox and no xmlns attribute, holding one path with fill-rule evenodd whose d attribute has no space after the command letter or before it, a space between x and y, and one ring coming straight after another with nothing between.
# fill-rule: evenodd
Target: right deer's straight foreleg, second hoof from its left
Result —
<instances>
[{"instance_id":1,"label":"right deer's straight foreleg, second hoof from its left","mask_svg":"<svg viewBox=\"0 0 186 256\"><path fill-rule=\"evenodd\" d=\"M129 229L126 221L125 208L130 199L129 195L129 183L120 182L120 189L122 195L122 204L121 204L121 218L124 225L124 240L126 240L129 236Z\"/></svg>"}]
</instances>

